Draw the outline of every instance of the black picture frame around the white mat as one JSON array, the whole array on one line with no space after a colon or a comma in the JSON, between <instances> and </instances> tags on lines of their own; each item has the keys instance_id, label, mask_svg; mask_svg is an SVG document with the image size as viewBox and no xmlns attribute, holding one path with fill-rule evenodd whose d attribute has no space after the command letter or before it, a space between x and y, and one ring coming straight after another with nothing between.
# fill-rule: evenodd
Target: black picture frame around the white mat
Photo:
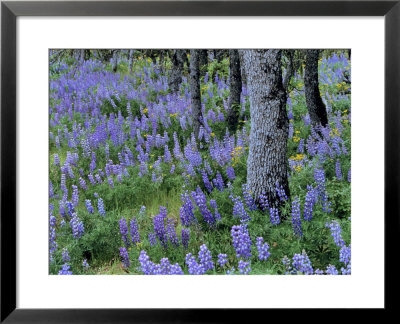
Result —
<instances>
[{"instance_id":1,"label":"black picture frame around the white mat","mask_svg":"<svg viewBox=\"0 0 400 324\"><path fill-rule=\"evenodd\" d=\"M252 309L16 308L16 18L19 16L384 16L385 310L398 306L400 231L400 0L394 1L2 1L1 3L1 317L3 323L236 322ZM368 175L366 175L368 176ZM374 190L371 188L370 190ZM366 247L367 248L367 247ZM365 271L373 271L371 268ZM393 297L391 297L393 296ZM265 318L265 320L267 320ZM251 322L251 321L250 321Z\"/></svg>"}]
</instances>

